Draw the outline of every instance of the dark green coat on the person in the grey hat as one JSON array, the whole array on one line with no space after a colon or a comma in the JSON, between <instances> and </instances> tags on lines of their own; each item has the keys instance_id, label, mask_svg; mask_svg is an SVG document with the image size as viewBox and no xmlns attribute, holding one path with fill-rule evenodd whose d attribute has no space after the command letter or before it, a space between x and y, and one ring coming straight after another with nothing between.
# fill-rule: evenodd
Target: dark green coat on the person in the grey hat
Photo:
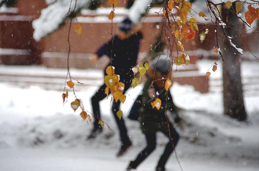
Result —
<instances>
[{"instance_id":1,"label":"dark green coat on the person in the grey hat","mask_svg":"<svg viewBox=\"0 0 259 171\"><path fill-rule=\"evenodd\" d=\"M152 80L148 78L145 82L142 92L141 108L139 111L139 121L143 133L153 133L156 131L167 129L167 122L165 117L166 99L167 110L175 111L175 106L173 105L170 90L166 92L165 90L163 90L164 88L159 88L155 83L153 83L154 87L150 88L151 83ZM158 98L162 102L161 108L159 110L157 110L156 108L153 109L151 105L151 102L156 99L156 92L161 92L158 96Z\"/></svg>"}]
</instances>

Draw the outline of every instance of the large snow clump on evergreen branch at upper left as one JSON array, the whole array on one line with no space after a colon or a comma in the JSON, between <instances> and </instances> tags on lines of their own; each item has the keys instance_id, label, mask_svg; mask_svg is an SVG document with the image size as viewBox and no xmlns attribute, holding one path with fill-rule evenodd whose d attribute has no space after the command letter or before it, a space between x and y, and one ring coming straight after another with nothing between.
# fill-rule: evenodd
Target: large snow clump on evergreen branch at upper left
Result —
<instances>
[{"instance_id":1,"label":"large snow clump on evergreen branch at upper left","mask_svg":"<svg viewBox=\"0 0 259 171\"><path fill-rule=\"evenodd\" d=\"M75 11L87 7L92 0L77 0ZM69 14L67 14L71 0L46 0L47 3L52 3L47 8L42 9L41 15L32 23L34 32L33 38L36 41L41 40L51 32L59 28L59 26L73 12L75 0L72 0Z\"/></svg>"}]
</instances>

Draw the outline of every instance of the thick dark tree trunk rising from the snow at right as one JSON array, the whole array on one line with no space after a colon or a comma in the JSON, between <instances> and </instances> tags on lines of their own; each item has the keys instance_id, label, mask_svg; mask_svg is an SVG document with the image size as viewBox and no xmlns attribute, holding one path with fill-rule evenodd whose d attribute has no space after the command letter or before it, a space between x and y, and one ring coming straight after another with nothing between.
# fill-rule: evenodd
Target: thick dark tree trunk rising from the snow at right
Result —
<instances>
[{"instance_id":1,"label":"thick dark tree trunk rising from the snow at right","mask_svg":"<svg viewBox=\"0 0 259 171\"><path fill-rule=\"evenodd\" d=\"M230 11L231 10L231 11ZM226 23L226 32L230 37L237 36L236 30L240 30L238 17L235 14L235 3L228 9L226 5L222 7L222 21ZM229 28L230 27L230 28ZM232 43L239 48L239 37L233 38ZM224 96L224 114L232 118L243 121L247 118L243 100L243 89L240 75L240 54L232 49L226 37L224 38L222 53L223 62L223 96Z\"/></svg>"}]
</instances>

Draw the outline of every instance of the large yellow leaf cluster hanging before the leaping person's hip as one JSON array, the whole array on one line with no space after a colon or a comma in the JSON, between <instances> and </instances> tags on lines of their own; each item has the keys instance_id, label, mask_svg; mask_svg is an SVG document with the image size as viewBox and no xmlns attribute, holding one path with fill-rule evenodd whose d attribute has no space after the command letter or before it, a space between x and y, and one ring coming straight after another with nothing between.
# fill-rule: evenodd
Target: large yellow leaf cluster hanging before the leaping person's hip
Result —
<instances>
[{"instance_id":1,"label":"large yellow leaf cluster hanging before the leaping person's hip","mask_svg":"<svg viewBox=\"0 0 259 171\"><path fill-rule=\"evenodd\" d=\"M104 77L104 83L106 85L105 94L108 96L109 91L113 94L114 100L117 102L120 100L122 103L126 100L126 96L123 94L125 85L119 82L119 76L115 74L114 67L108 66L105 70L106 76Z\"/></svg>"}]
</instances>

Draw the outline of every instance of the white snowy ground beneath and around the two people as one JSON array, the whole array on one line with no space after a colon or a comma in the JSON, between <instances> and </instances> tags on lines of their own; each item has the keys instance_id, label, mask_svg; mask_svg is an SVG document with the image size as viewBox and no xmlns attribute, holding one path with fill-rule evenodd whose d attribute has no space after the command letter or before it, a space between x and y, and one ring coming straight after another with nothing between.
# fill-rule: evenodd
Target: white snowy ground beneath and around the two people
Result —
<instances>
[{"instance_id":1,"label":"white snowy ground beneath and around the two people","mask_svg":"<svg viewBox=\"0 0 259 171\"><path fill-rule=\"evenodd\" d=\"M201 60L198 66L206 72L212 63ZM220 65L219 62L219 69L212 73L212 78L222 77ZM258 76L258 66L259 62L244 62L243 77ZM250 91L244 92L249 118L240 123L222 115L222 95L220 91L214 91L217 88L201 94L191 86L173 84L175 104L183 109L180 115L186 121L184 126L177 127L182 138L176 148L184 171L259 171L259 94L256 85L258 82L249 87ZM103 120L114 131L105 127L97 139L86 141L91 124L83 122L79 111L74 113L70 108L69 103L74 99L72 92L69 102L63 106L59 91L47 91L39 86L21 88L7 83L0 83L0 89L1 171L122 171L145 146L138 122L126 118L141 86L128 91L131 96L122 106L133 147L121 158L115 157L120 144L114 119L108 110L109 100L101 102L101 112ZM97 87L87 87L77 92L89 110L89 98L96 90ZM137 170L154 170L165 143L166 137L158 134L156 151ZM180 171L175 155L170 158L167 168Z\"/></svg>"}]
</instances>

